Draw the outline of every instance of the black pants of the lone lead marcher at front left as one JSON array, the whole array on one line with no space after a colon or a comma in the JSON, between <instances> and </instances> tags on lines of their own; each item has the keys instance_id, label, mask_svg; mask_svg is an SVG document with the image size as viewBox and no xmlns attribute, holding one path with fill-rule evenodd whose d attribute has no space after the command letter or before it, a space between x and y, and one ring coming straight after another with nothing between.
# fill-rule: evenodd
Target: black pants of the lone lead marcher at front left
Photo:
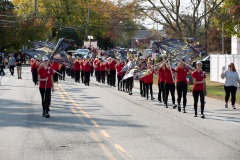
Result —
<instances>
[{"instance_id":1,"label":"black pants of the lone lead marcher at front left","mask_svg":"<svg viewBox=\"0 0 240 160\"><path fill-rule=\"evenodd\" d=\"M51 88L39 88L42 97L43 113L48 114L49 106L51 103Z\"/></svg>"}]
</instances>

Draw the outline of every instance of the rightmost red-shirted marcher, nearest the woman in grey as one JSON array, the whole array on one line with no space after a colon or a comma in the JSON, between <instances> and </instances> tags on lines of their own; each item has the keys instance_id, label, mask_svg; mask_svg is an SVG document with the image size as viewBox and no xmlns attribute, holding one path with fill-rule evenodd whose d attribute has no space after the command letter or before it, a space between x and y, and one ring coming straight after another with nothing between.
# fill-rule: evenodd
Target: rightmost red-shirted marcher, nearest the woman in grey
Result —
<instances>
[{"instance_id":1,"label":"rightmost red-shirted marcher, nearest the woman in grey","mask_svg":"<svg viewBox=\"0 0 240 160\"><path fill-rule=\"evenodd\" d=\"M197 117L197 104L198 104L198 98L200 96L200 103L201 103L201 118L205 118L204 116L204 94L206 94L206 75L202 71L202 62L198 61L196 63L196 69L192 73L192 78L193 78L193 98L194 98L194 111L195 111L195 116Z\"/></svg>"}]
</instances>

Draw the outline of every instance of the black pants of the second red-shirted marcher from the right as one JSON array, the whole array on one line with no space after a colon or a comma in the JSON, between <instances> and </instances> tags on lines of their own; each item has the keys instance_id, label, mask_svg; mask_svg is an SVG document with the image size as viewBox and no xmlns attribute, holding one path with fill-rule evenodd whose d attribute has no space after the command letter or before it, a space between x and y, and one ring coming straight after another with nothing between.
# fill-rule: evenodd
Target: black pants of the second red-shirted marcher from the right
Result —
<instances>
[{"instance_id":1,"label":"black pants of the second red-shirted marcher from the right","mask_svg":"<svg viewBox=\"0 0 240 160\"><path fill-rule=\"evenodd\" d=\"M183 97L183 108L186 107L187 104L187 83L186 82L178 82L177 83L177 102L178 105L181 103L181 99Z\"/></svg>"}]
</instances>

